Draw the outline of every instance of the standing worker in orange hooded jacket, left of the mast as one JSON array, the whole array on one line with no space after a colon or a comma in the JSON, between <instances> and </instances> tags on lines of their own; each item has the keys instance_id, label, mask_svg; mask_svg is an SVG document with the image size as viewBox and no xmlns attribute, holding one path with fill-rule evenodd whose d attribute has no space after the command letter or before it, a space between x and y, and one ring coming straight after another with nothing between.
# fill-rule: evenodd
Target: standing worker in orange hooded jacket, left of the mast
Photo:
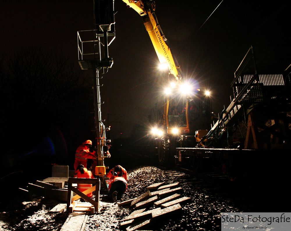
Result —
<instances>
[{"instance_id":1,"label":"standing worker in orange hooded jacket, left of the mast","mask_svg":"<svg viewBox=\"0 0 291 231\"><path fill-rule=\"evenodd\" d=\"M91 146L92 146L92 141L88 139L77 148L76 153L75 153L75 162L74 162L75 172L77 171L77 167L79 164L83 164L85 167L87 167L88 159L97 158L96 152L90 151Z\"/></svg>"}]
</instances>

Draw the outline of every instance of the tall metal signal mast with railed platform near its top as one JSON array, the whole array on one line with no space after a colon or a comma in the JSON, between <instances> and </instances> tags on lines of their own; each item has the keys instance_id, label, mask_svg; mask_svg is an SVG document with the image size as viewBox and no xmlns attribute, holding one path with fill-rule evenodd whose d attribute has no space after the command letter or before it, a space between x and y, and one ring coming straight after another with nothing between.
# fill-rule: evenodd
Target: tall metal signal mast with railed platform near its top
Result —
<instances>
[{"instance_id":1,"label":"tall metal signal mast with railed platform near its top","mask_svg":"<svg viewBox=\"0 0 291 231\"><path fill-rule=\"evenodd\" d=\"M113 65L108 47L115 39L114 2L94 1L95 29L78 31L78 62L82 70L92 69L94 83L94 114L96 130L97 166L104 166L102 147L106 145L105 126L101 119L99 73L106 73Z\"/></svg>"}]
</instances>

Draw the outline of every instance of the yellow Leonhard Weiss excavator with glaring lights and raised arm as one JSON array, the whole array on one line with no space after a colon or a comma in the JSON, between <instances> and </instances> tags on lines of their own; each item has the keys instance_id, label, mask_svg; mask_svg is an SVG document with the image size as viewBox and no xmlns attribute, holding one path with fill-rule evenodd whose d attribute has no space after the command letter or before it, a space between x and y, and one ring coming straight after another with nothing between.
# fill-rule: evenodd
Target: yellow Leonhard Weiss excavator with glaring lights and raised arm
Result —
<instances>
[{"instance_id":1,"label":"yellow Leonhard Weiss excavator with glaring lights and raised arm","mask_svg":"<svg viewBox=\"0 0 291 231\"><path fill-rule=\"evenodd\" d=\"M137 142L142 147L141 152L157 155L160 164L168 165L175 155L175 148L191 146L196 130L210 128L213 116L211 101L198 86L184 78L157 20L155 1L123 1L142 16L159 62L167 65L169 70L164 86L163 115L152 124L151 135Z\"/></svg>"}]
</instances>

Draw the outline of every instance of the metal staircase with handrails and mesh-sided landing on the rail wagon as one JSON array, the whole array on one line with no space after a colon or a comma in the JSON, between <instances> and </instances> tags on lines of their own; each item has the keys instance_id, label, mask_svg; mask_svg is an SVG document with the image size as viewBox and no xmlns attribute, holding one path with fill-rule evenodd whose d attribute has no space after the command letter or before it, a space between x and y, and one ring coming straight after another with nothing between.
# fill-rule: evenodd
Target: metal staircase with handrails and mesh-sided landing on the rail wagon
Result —
<instances>
[{"instance_id":1,"label":"metal staircase with handrails and mesh-sided landing on the rail wagon","mask_svg":"<svg viewBox=\"0 0 291 231\"><path fill-rule=\"evenodd\" d=\"M250 66L252 69L250 69ZM254 73L250 73L250 70ZM215 134L222 134L228 126L234 125L242 115L246 118L257 105L262 104L266 100L279 98L280 92L282 92L285 85L283 74L257 73L252 46L244 56L234 75L235 78L231 83L234 99L221 112L218 121L212 126L211 130L199 144L213 137Z\"/></svg>"}]
</instances>

